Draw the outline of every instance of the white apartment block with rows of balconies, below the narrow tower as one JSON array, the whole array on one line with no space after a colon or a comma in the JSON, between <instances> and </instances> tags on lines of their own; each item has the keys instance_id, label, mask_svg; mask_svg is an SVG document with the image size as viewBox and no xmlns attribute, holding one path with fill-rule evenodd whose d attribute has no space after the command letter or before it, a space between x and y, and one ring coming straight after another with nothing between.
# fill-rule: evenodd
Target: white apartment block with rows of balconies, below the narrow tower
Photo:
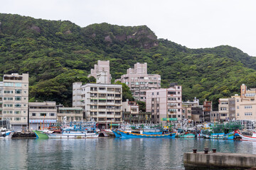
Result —
<instances>
[{"instance_id":1,"label":"white apartment block with rows of balconies, below the narrow tower","mask_svg":"<svg viewBox=\"0 0 256 170\"><path fill-rule=\"evenodd\" d=\"M79 89L78 84L74 83L74 89ZM84 84L80 86L73 98L80 98L81 105L73 101L73 107L82 107L85 111L86 120L94 119L99 125L106 123L122 122L122 85L120 84ZM75 103L75 104L74 104Z\"/></svg>"}]
</instances>

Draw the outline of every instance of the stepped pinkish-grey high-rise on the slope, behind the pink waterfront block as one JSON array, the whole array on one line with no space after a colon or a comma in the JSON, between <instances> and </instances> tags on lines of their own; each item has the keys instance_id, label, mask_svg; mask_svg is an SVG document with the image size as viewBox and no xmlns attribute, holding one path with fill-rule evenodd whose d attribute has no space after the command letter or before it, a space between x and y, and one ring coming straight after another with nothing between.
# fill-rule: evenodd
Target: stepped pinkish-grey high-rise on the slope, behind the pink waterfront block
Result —
<instances>
[{"instance_id":1,"label":"stepped pinkish-grey high-rise on the slope, behind the pink waterfront block","mask_svg":"<svg viewBox=\"0 0 256 170\"><path fill-rule=\"evenodd\" d=\"M129 68L127 74L122 75L121 82L129 86L135 100L146 102L146 90L159 89L161 76L159 74L147 74L147 64L137 62L134 64L134 69Z\"/></svg>"}]
</instances>

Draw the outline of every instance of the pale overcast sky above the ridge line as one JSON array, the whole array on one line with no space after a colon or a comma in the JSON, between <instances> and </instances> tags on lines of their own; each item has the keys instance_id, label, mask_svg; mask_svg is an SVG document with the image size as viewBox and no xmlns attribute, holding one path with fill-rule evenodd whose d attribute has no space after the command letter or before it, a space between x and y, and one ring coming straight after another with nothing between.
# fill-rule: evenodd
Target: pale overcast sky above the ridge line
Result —
<instances>
[{"instance_id":1,"label":"pale overcast sky above the ridge line","mask_svg":"<svg viewBox=\"0 0 256 170\"><path fill-rule=\"evenodd\" d=\"M146 25L190 48L231 45L256 57L256 0L0 0L0 13L48 20Z\"/></svg>"}]
</instances>

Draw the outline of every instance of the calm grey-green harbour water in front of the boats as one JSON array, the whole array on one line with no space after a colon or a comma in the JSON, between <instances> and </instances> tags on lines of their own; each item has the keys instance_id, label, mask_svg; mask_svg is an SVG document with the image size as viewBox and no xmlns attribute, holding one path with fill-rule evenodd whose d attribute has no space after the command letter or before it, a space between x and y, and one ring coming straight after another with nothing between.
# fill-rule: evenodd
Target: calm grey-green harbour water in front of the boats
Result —
<instances>
[{"instance_id":1,"label":"calm grey-green harbour water in front of the boats","mask_svg":"<svg viewBox=\"0 0 256 170\"><path fill-rule=\"evenodd\" d=\"M256 154L256 142L204 139L0 140L0 169L184 169L193 148Z\"/></svg>"}]
</instances>

